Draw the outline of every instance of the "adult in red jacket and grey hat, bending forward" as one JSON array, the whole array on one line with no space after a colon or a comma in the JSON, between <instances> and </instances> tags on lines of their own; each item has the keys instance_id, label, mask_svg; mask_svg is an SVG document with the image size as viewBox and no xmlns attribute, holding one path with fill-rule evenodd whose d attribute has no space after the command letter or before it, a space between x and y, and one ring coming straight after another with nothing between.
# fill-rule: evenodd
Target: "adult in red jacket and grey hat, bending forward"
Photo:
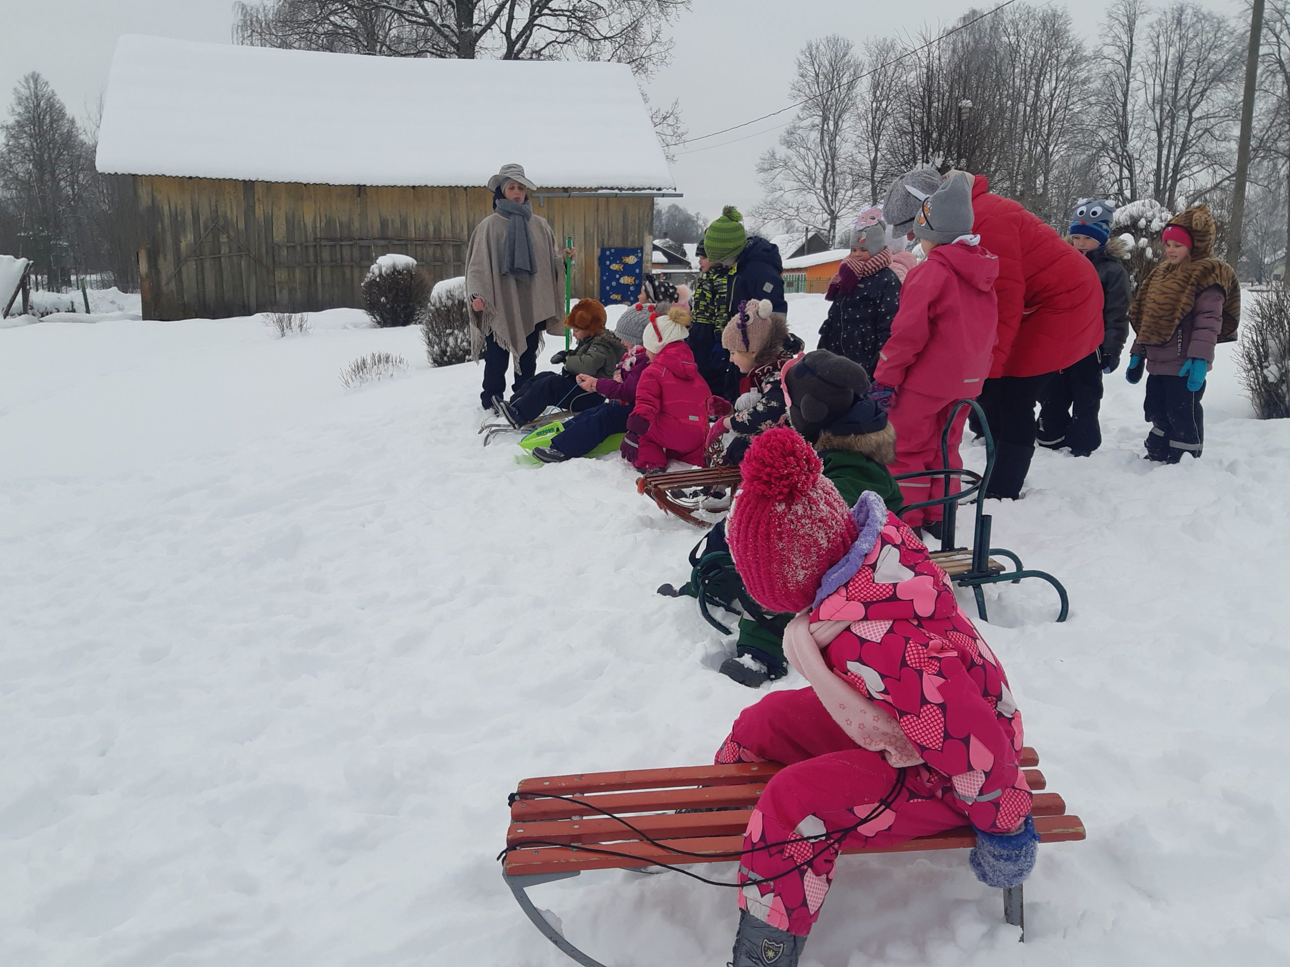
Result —
<instances>
[{"instance_id":1,"label":"adult in red jacket and grey hat, bending forward","mask_svg":"<svg viewBox=\"0 0 1290 967\"><path fill-rule=\"evenodd\" d=\"M888 192L884 214L898 231L930 193L928 175L907 171ZM998 258L998 342L979 400L996 446L987 496L1015 499L1035 455L1045 384L1102 344L1102 285L1086 258L1022 205L991 193L984 175L975 175L971 196L973 232Z\"/></svg>"}]
</instances>

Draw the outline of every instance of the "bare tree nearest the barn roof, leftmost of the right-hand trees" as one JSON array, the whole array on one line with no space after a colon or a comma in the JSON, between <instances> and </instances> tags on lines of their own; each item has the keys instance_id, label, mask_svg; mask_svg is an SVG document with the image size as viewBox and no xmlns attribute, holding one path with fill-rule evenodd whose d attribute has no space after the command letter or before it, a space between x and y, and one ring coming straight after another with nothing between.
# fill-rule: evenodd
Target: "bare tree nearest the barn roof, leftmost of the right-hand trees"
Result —
<instances>
[{"instance_id":1,"label":"bare tree nearest the barn roof, leftmost of the right-hand trees","mask_svg":"<svg viewBox=\"0 0 1290 967\"><path fill-rule=\"evenodd\" d=\"M779 150L757 161L766 197L755 214L837 235L838 222L866 197L854 161L863 72L851 41L836 34L810 41L797 55L788 90L801 108L779 135Z\"/></svg>"}]
</instances>

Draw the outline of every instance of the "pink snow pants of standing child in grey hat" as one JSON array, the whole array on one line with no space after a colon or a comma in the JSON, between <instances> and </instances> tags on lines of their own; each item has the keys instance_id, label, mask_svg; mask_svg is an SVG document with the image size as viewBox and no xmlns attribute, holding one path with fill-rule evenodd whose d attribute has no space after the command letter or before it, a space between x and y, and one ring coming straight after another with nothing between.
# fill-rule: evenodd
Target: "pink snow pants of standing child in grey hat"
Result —
<instances>
[{"instance_id":1,"label":"pink snow pants of standing child in grey hat","mask_svg":"<svg viewBox=\"0 0 1290 967\"><path fill-rule=\"evenodd\" d=\"M913 389L900 389L895 395L895 406L888 418L895 427L895 463L889 468L891 476L899 477L902 473L917 473L918 471L940 469L940 433L949 419L949 410L958 402L960 397L944 398L940 396L926 396ZM968 422L968 411L964 410L955 418L955 425L949 431L949 467L962 468L958 456L958 444L964 438L964 423ZM960 490L958 481L949 480L951 494ZM946 495L944 477L918 477L917 480L900 481L900 496L907 504L921 504L924 500L935 500ZM939 521L944 508L928 507L922 511L903 513L900 518L911 527L920 526L924 521Z\"/></svg>"}]
</instances>

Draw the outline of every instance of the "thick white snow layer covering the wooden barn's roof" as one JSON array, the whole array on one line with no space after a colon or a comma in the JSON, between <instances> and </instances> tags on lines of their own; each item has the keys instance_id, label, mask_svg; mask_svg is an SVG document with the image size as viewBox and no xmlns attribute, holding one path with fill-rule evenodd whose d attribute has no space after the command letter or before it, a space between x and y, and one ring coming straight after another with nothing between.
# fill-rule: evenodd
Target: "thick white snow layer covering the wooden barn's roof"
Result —
<instances>
[{"instance_id":1,"label":"thick white snow layer covering the wooden barn's roof","mask_svg":"<svg viewBox=\"0 0 1290 967\"><path fill-rule=\"evenodd\" d=\"M571 138L556 119L595 138ZM123 36L98 142L104 174L306 184L673 190L631 70L439 61Z\"/></svg>"}]
</instances>

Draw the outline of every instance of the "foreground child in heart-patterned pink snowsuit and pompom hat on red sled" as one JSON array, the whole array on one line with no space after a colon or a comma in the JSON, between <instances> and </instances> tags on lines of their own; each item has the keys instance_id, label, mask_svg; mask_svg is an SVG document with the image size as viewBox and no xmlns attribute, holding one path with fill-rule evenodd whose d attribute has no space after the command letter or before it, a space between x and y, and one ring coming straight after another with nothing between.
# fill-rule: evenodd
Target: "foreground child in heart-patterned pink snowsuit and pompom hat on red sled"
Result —
<instances>
[{"instance_id":1,"label":"foreground child in heart-patterned pink snowsuit and pompom hat on red sled","mask_svg":"<svg viewBox=\"0 0 1290 967\"><path fill-rule=\"evenodd\" d=\"M913 530L869 491L849 511L791 429L757 437L742 471L730 552L759 603L801 612L784 650L810 687L744 709L716 756L787 766L744 834L734 964L791 967L844 847L971 824L973 870L1009 887L1038 837L1004 668Z\"/></svg>"}]
</instances>

